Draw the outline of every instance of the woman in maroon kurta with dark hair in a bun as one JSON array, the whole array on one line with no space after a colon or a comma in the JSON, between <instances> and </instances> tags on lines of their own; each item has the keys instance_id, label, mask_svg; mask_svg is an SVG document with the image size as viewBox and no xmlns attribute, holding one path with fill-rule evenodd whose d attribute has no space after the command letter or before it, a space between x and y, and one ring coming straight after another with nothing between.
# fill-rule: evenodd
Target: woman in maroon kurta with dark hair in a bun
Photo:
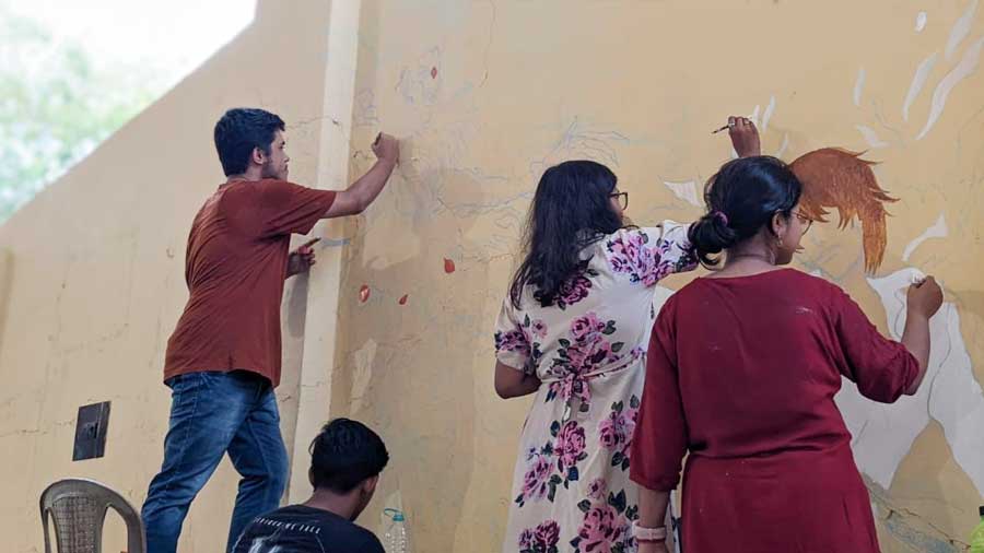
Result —
<instances>
[{"instance_id":1,"label":"woman in maroon kurta with dark hair in a bun","mask_svg":"<svg viewBox=\"0 0 984 553\"><path fill-rule=\"evenodd\" d=\"M683 473L687 553L877 552L867 490L834 404L841 376L875 401L914 393L942 299L909 291L902 343L882 338L840 287L788 263L810 221L783 162L748 157L712 178L691 230L705 264L663 307L649 343L632 480L642 486L640 553Z\"/></svg>"}]
</instances>

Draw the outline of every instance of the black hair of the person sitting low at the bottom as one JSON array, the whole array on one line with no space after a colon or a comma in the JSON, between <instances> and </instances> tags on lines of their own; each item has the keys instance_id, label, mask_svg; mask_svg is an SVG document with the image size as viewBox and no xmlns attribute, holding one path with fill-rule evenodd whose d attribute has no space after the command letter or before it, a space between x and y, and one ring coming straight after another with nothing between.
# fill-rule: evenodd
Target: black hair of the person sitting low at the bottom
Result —
<instances>
[{"instance_id":1,"label":"black hair of the person sitting low at the bottom","mask_svg":"<svg viewBox=\"0 0 984 553\"><path fill-rule=\"evenodd\" d=\"M311 476L315 489L347 494L383 472L389 452L378 434L349 419L336 419L311 443Z\"/></svg>"}]
</instances>

